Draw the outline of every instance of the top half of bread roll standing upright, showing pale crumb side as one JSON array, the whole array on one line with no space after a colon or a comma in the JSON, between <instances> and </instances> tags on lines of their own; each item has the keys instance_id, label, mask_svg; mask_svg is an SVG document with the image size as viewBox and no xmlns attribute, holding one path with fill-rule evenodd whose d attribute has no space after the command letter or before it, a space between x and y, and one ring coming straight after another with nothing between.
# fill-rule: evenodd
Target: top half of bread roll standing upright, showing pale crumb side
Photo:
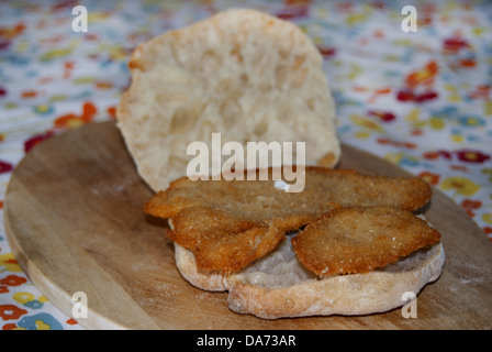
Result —
<instances>
[{"instance_id":1,"label":"top half of bread roll standing upright, showing pale crumb side","mask_svg":"<svg viewBox=\"0 0 492 352\"><path fill-rule=\"evenodd\" d=\"M134 51L118 125L155 191L186 175L189 143L210 145L213 132L222 143L305 142L308 165L332 167L340 148L322 65L293 23L255 10L220 12Z\"/></svg>"}]
</instances>

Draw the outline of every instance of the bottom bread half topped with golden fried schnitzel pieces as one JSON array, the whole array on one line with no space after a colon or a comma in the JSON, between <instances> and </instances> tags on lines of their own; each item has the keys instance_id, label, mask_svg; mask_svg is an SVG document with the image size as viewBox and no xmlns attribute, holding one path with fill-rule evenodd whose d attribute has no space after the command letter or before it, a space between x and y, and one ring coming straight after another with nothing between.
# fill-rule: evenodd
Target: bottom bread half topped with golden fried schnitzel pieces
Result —
<instances>
[{"instance_id":1,"label":"bottom bread half topped with golden fried schnitzel pieces","mask_svg":"<svg viewBox=\"0 0 492 352\"><path fill-rule=\"evenodd\" d=\"M387 311L439 277L425 182L308 167L302 193L275 183L183 177L145 212L168 219L185 279L264 319Z\"/></svg>"}]
</instances>

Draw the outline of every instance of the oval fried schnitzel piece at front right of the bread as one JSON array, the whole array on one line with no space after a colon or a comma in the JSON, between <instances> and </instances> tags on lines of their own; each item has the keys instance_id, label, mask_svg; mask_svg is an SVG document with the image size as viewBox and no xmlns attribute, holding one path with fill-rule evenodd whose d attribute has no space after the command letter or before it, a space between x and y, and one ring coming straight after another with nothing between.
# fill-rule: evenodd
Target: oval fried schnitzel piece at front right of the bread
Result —
<instances>
[{"instance_id":1,"label":"oval fried schnitzel piece at front right of the bread","mask_svg":"<svg viewBox=\"0 0 492 352\"><path fill-rule=\"evenodd\" d=\"M394 207L334 209L292 238L299 261L317 275L366 273L436 244L425 220Z\"/></svg>"}]
</instances>

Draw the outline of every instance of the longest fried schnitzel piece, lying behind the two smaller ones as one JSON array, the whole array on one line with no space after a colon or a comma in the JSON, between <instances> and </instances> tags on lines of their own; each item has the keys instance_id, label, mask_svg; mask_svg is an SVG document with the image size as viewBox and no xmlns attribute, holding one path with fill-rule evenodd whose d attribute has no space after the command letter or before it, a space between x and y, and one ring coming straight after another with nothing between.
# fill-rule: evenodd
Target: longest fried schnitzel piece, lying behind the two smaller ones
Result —
<instances>
[{"instance_id":1,"label":"longest fried schnitzel piece, lying behind the two smaller ones","mask_svg":"<svg viewBox=\"0 0 492 352\"><path fill-rule=\"evenodd\" d=\"M145 212L172 218L192 206L244 206L244 211L270 218L279 213L290 216L302 208L318 212L318 207L326 202L343 207L393 206L414 211L425 206L432 196L431 186L420 178L364 175L351 169L317 166L305 167L303 191L286 193L276 187L278 182L271 179L271 168L269 170L269 180L192 182L188 177L178 178L145 205Z\"/></svg>"}]
</instances>

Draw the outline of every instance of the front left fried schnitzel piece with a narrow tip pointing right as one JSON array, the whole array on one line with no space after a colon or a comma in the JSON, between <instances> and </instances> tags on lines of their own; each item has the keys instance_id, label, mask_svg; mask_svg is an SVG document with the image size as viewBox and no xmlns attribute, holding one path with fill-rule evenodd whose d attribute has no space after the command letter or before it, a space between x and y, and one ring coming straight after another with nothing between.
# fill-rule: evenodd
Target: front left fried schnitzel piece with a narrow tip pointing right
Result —
<instances>
[{"instance_id":1,"label":"front left fried schnitzel piece with a narrow tip pointing right","mask_svg":"<svg viewBox=\"0 0 492 352\"><path fill-rule=\"evenodd\" d=\"M262 257L284 240L284 233L309 218L260 221L241 211L191 207L172 218L169 238L194 252L201 270L235 272Z\"/></svg>"}]
</instances>

